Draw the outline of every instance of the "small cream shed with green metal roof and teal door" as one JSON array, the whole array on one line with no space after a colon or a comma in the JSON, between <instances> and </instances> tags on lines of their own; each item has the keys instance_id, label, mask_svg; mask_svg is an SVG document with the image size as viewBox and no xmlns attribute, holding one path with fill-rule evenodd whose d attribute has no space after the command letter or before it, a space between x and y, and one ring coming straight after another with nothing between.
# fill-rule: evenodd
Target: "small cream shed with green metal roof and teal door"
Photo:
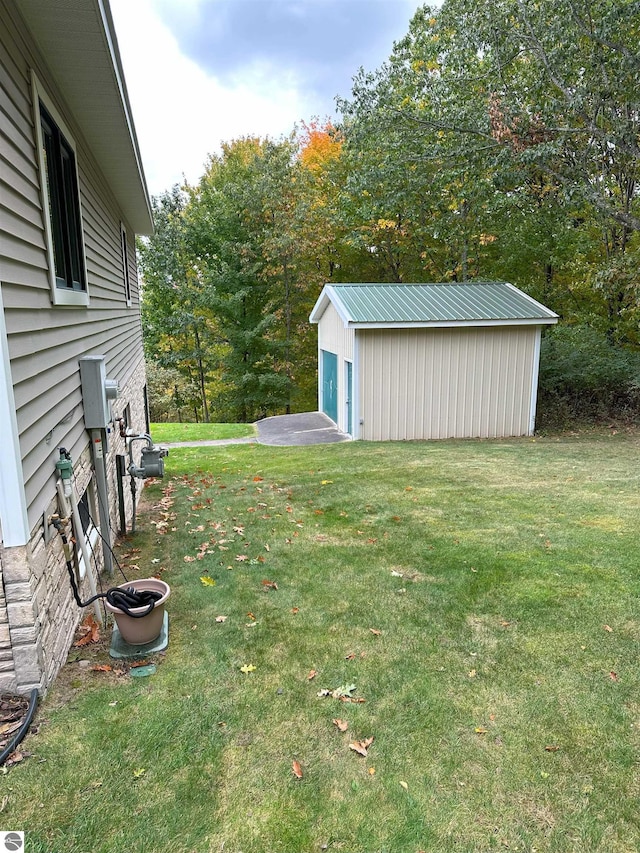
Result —
<instances>
[{"instance_id":1,"label":"small cream shed with green metal roof and teal door","mask_svg":"<svg viewBox=\"0 0 640 853\"><path fill-rule=\"evenodd\" d=\"M369 441L532 435L542 326L512 284L332 284L318 324L319 408Z\"/></svg>"}]
</instances>

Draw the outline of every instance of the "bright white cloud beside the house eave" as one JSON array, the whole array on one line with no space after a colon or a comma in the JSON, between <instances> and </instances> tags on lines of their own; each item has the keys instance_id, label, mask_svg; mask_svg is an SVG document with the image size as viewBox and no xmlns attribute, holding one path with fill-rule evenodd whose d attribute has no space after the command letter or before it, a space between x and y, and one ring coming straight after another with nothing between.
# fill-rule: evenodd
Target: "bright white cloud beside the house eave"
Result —
<instances>
[{"instance_id":1,"label":"bright white cloud beside the house eave","mask_svg":"<svg viewBox=\"0 0 640 853\"><path fill-rule=\"evenodd\" d=\"M181 53L153 0L111 0L111 10L153 195L183 177L195 183L221 142L244 135L279 137L307 117L295 80L267 82L259 65L247 66L222 86Z\"/></svg>"}]
</instances>

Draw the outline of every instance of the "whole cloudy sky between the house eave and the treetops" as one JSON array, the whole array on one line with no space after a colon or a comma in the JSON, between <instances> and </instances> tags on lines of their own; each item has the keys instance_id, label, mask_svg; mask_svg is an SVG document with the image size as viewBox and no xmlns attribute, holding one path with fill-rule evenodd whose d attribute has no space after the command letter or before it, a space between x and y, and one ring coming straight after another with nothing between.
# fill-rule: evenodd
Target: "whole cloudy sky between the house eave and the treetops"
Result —
<instances>
[{"instance_id":1,"label":"whole cloudy sky between the house eave and the treetops","mask_svg":"<svg viewBox=\"0 0 640 853\"><path fill-rule=\"evenodd\" d=\"M110 0L149 192L196 183L220 143L335 117L419 0Z\"/></svg>"}]
</instances>

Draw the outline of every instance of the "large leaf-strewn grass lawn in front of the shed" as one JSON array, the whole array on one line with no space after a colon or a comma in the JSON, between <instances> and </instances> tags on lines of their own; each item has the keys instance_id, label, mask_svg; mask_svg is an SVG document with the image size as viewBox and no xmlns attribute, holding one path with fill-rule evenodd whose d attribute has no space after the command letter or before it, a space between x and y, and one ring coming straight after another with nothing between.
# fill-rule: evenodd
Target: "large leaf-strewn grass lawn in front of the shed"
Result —
<instances>
[{"instance_id":1,"label":"large leaf-strewn grass lawn in front of the shed","mask_svg":"<svg viewBox=\"0 0 640 853\"><path fill-rule=\"evenodd\" d=\"M171 585L169 649L147 678L72 650L2 825L38 853L640 849L639 449L172 452L120 548Z\"/></svg>"}]
</instances>

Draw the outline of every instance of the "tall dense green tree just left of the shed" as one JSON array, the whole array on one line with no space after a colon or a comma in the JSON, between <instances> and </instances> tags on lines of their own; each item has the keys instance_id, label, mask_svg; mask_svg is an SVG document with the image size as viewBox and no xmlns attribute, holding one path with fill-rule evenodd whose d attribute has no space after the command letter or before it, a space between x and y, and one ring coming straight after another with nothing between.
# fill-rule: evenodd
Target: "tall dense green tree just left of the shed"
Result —
<instances>
[{"instance_id":1,"label":"tall dense green tree just left of the shed","mask_svg":"<svg viewBox=\"0 0 640 853\"><path fill-rule=\"evenodd\" d=\"M276 318L269 284L262 276L258 162L263 149L251 138L223 145L191 188L187 211L192 262L223 345L217 366L224 390L216 405L243 422L278 411L288 395L279 364L282 347L272 334Z\"/></svg>"}]
</instances>

